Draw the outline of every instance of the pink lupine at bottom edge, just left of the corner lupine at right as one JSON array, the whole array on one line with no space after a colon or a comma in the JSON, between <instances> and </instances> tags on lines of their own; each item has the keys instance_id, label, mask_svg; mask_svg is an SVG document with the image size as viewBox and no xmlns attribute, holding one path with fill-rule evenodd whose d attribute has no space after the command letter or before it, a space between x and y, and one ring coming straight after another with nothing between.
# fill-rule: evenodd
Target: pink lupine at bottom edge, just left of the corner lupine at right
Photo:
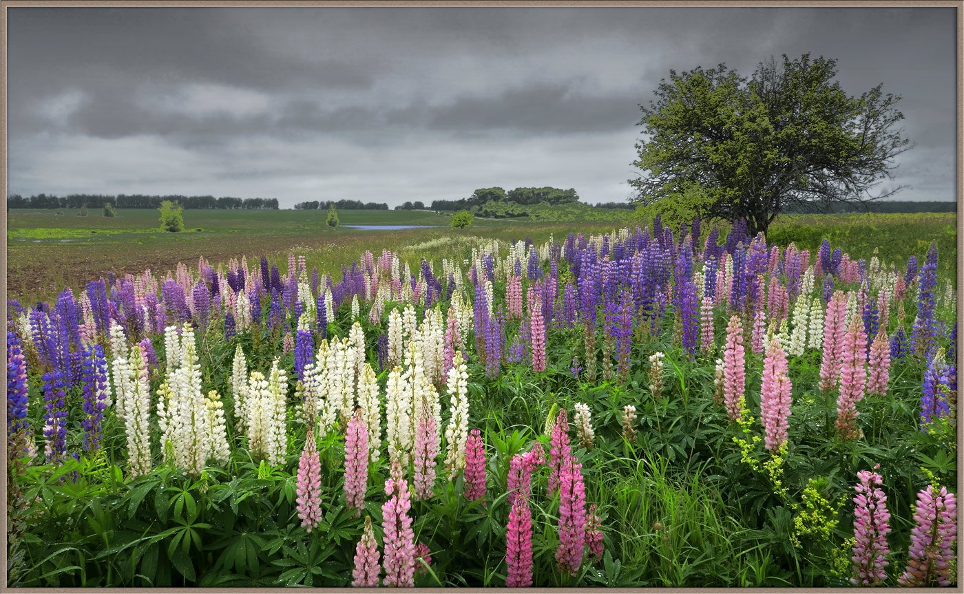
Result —
<instances>
[{"instance_id":1,"label":"pink lupine at bottom edge, just left of the corner lupine at right","mask_svg":"<svg viewBox=\"0 0 964 594\"><path fill-rule=\"evenodd\" d=\"M878 464L875 469L880 468ZM887 496L880 485L883 478L878 473L857 473L859 483L854 485L857 495L853 498L853 578L856 585L879 585L887 580L884 571L890 564L886 557L891 553L887 535L891 531L891 514L887 511Z\"/></svg>"}]
</instances>

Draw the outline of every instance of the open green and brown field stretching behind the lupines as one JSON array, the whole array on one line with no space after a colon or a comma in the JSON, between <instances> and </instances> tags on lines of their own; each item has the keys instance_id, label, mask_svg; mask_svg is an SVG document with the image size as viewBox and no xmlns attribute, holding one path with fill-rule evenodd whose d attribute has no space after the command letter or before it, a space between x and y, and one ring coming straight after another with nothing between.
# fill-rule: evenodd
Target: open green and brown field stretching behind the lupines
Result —
<instances>
[{"instance_id":1,"label":"open green and brown field stretching behind the lupines","mask_svg":"<svg viewBox=\"0 0 964 594\"><path fill-rule=\"evenodd\" d=\"M115 218L79 217L76 210L11 210L7 223L8 292L24 300L47 298L65 285L78 287L108 272L135 273L147 268L166 271L178 262L199 257L217 263L231 257L279 258L295 251L309 266L337 272L364 250L398 251L415 259L414 248L428 244L433 257L465 257L481 239L503 241L526 237L561 239L571 231L600 232L624 223L606 220L533 221L476 217L470 229L448 228L449 215L423 210L342 210L341 225L418 225L431 229L329 229L322 210L186 210L187 230L158 229L156 210L119 210ZM99 214L99 213L96 213ZM708 229L705 226L704 232ZM870 258L877 250L884 261L924 257L937 240L942 276L952 279L956 262L956 215L846 214L785 215L768 239L790 241L816 251L823 237L845 246L853 257ZM431 242L431 243L428 243Z\"/></svg>"}]
</instances>

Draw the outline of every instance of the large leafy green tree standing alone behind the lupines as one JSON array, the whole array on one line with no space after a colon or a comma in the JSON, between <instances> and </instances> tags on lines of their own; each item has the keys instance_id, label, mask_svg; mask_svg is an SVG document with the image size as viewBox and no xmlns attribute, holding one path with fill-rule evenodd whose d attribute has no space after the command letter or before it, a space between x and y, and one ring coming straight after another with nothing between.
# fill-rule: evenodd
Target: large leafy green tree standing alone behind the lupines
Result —
<instances>
[{"instance_id":1,"label":"large leafy green tree standing alone behind the lupines","mask_svg":"<svg viewBox=\"0 0 964 594\"><path fill-rule=\"evenodd\" d=\"M900 97L880 85L849 95L836 76L835 60L809 54L770 58L749 79L723 64L670 70L656 99L640 105L636 201L688 201L703 217L765 233L789 207L893 195L904 186L871 190L893 179L895 157L911 147L898 127Z\"/></svg>"}]
</instances>

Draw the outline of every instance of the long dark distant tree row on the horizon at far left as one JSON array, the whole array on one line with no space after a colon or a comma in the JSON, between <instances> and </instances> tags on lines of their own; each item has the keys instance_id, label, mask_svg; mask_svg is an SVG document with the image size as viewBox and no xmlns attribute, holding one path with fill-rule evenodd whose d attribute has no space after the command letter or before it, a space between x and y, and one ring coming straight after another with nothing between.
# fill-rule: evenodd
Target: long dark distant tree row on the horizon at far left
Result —
<instances>
[{"instance_id":1,"label":"long dark distant tree row on the horizon at far left","mask_svg":"<svg viewBox=\"0 0 964 594\"><path fill-rule=\"evenodd\" d=\"M161 202L177 202L185 209L207 210L278 210L277 198L214 198L213 196L147 196L144 194L70 194L69 196L20 196L7 197L7 208L100 208L110 203L114 208L160 208Z\"/></svg>"}]
</instances>

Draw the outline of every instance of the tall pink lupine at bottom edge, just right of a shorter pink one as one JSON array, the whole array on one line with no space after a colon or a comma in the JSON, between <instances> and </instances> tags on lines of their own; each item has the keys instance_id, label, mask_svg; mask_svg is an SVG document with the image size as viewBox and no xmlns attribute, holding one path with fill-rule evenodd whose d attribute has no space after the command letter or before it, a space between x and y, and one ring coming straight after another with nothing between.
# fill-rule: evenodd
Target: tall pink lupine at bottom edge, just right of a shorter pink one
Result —
<instances>
[{"instance_id":1,"label":"tall pink lupine at bottom edge, just right of a shorter pink one","mask_svg":"<svg viewBox=\"0 0 964 594\"><path fill-rule=\"evenodd\" d=\"M382 529L385 532L384 558L385 585L408 587L415 585L415 532L409 509L409 484L402 476L402 467L391 463L391 478L385 481L385 494L391 498L382 505Z\"/></svg>"}]
</instances>

